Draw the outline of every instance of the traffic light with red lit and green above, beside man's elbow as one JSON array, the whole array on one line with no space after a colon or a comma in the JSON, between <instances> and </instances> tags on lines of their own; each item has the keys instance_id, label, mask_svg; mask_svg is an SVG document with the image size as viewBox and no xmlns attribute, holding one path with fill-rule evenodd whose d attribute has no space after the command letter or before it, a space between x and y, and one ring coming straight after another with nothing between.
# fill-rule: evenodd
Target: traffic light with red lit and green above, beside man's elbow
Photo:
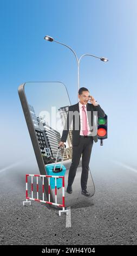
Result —
<instances>
[{"instance_id":1,"label":"traffic light with red lit and green above, beside man's elbow","mask_svg":"<svg viewBox=\"0 0 137 256\"><path fill-rule=\"evenodd\" d=\"M97 137L100 139L100 145L103 145L103 139L107 139L107 130L108 130L108 118L107 115L105 117L99 117L97 119Z\"/></svg>"}]
</instances>

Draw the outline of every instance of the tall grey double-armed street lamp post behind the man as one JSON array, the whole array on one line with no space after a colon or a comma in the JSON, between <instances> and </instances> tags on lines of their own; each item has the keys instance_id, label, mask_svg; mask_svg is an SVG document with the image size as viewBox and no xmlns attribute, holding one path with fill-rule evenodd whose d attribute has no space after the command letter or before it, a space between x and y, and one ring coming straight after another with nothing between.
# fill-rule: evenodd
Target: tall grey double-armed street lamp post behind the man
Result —
<instances>
[{"instance_id":1,"label":"tall grey double-armed street lamp post behind the man","mask_svg":"<svg viewBox=\"0 0 137 256\"><path fill-rule=\"evenodd\" d=\"M62 42L58 42L58 41L54 40L54 38L51 38L51 36L49 36L49 35L45 35L44 39L47 40L47 41L50 41L50 42L54 41L54 42L57 42L58 44L64 45L64 46L68 47L74 53L74 55L76 57L76 61L77 61L77 88L78 88L78 92L79 92L79 89L80 89L80 61L81 61L81 59L84 56L92 56L94 58L100 59L102 62L108 62L108 59L105 58L105 57L97 57L97 56L89 54L89 53L83 54L80 58L77 58L76 53L74 52L74 50L70 46L68 46L66 44L62 44ZM78 98L78 101L79 101L79 98Z\"/></svg>"}]
</instances>

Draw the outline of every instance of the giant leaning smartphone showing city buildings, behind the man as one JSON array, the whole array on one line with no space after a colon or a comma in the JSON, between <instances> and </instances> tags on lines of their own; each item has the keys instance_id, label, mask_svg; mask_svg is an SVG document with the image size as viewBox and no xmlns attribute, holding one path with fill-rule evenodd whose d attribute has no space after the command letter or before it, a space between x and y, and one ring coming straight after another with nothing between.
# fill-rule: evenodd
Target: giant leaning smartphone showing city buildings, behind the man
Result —
<instances>
[{"instance_id":1,"label":"giant leaning smartphone showing city buildings, behind the man","mask_svg":"<svg viewBox=\"0 0 137 256\"><path fill-rule=\"evenodd\" d=\"M66 167L66 173L64 175L65 206L67 208L68 206L87 200L87 197L81 194L82 157L73 182L73 193L68 194L66 191L73 152L71 127L67 141L64 143L66 144L66 148L60 148L58 150L58 144L61 141L64 123L68 114L68 107L71 105L66 86L61 82L27 82L18 87L18 94L40 174L49 175L49 173L47 173L47 166L55 164L56 158L57 164L62 163L64 153L63 166ZM62 175L62 173L59 172L58 175ZM48 201L48 178L44 179L44 188L45 200ZM90 197L95 193L95 186L90 169L87 191L90 192ZM55 188L51 186L50 201L55 203ZM57 187L57 203L62 204L62 187ZM60 208L59 206L50 206L57 209Z\"/></svg>"}]
</instances>

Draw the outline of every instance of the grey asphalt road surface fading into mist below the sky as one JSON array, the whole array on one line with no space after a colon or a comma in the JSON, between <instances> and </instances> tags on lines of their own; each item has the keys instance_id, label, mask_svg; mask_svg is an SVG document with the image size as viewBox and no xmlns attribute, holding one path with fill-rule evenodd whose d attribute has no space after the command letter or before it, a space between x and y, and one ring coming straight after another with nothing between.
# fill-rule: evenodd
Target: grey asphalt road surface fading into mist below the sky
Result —
<instances>
[{"instance_id":1,"label":"grey asphalt road surface fading into mist below the sky","mask_svg":"<svg viewBox=\"0 0 137 256\"><path fill-rule=\"evenodd\" d=\"M23 164L0 170L1 245L136 245L137 172L118 163L93 168L93 197L71 206L66 214L43 203L25 200L25 174L37 173Z\"/></svg>"}]
</instances>

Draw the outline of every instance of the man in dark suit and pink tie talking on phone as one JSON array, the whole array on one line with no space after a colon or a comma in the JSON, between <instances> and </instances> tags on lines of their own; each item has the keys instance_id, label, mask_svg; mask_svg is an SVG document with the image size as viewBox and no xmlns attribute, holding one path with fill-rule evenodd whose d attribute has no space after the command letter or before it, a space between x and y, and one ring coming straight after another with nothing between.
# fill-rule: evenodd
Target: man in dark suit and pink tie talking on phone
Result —
<instances>
[{"instance_id":1,"label":"man in dark suit and pink tie talking on phone","mask_svg":"<svg viewBox=\"0 0 137 256\"><path fill-rule=\"evenodd\" d=\"M71 121L73 120L73 129L72 129L72 161L69 168L68 175L68 186L67 192L71 194L72 184L76 175L77 167L79 166L81 154L82 154L82 173L81 173L81 193L84 196L90 196L90 193L87 191L87 181L88 181L88 171L89 171L89 161L90 155L92 153L93 142L97 142L97 134L93 133L94 127L94 113L97 113L97 117L105 117L105 112L96 103L93 96L90 96L89 90L87 88L81 87L79 89L79 102L75 105L71 105L68 108L68 115L65 124L65 128L62 132L61 142L59 146L64 146L64 142L67 140L69 127ZM90 101L90 103L88 103ZM94 112L93 111L97 111ZM74 114L78 113L78 118ZM76 125L78 126L76 127Z\"/></svg>"}]
</instances>

